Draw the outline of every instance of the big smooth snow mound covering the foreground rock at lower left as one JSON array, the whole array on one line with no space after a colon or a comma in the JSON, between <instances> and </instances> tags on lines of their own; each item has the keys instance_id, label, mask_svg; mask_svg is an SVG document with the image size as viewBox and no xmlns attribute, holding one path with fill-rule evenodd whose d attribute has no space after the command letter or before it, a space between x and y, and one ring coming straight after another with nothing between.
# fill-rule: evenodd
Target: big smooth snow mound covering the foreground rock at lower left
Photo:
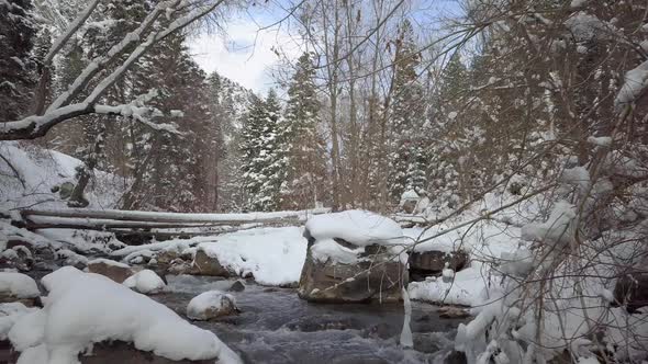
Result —
<instances>
[{"instance_id":1,"label":"big smooth snow mound covering the foreground rock at lower left","mask_svg":"<svg viewBox=\"0 0 648 364\"><path fill-rule=\"evenodd\" d=\"M79 353L107 340L133 342L175 361L241 362L214 333L104 276L65 266L42 282L49 292L45 307L22 316L9 331L22 352L19 362L78 363Z\"/></svg>"}]
</instances>

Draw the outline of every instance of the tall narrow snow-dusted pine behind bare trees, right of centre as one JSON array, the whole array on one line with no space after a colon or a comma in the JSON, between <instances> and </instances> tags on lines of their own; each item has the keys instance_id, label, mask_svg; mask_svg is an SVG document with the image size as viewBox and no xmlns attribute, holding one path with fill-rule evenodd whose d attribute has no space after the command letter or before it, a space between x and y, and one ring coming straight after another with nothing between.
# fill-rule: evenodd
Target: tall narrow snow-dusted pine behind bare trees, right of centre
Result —
<instances>
[{"instance_id":1,"label":"tall narrow snow-dusted pine behind bare trees, right of centre","mask_svg":"<svg viewBox=\"0 0 648 364\"><path fill-rule=\"evenodd\" d=\"M413 190L425 191L425 170L428 164L425 125L424 90L418 80L421 56L414 30L403 21L395 41L393 101L390 111L390 175L389 191L392 201Z\"/></svg>"}]
</instances>

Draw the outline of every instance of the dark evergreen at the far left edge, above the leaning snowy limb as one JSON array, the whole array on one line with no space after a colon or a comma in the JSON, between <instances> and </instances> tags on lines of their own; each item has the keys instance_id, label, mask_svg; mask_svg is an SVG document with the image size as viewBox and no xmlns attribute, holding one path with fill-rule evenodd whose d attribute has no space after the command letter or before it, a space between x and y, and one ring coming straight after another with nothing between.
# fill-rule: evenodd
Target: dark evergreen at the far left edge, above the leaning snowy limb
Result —
<instances>
[{"instance_id":1,"label":"dark evergreen at the far left edge, above the leaning snowy limb","mask_svg":"<svg viewBox=\"0 0 648 364\"><path fill-rule=\"evenodd\" d=\"M0 2L0 122L15 121L26 112L35 87L31 10L31 0Z\"/></svg>"}]
</instances>

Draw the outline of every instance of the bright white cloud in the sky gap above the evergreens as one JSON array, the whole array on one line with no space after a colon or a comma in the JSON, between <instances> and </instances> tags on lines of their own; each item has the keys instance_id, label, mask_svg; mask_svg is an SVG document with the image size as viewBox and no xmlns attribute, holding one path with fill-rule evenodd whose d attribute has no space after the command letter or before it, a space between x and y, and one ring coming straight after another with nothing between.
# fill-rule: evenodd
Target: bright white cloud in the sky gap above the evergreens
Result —
<instances>
[{"instance_id":1,"label":"bright white cloud in the sky gap above the evergreens","mask_svg":"<svg viewBox=\"0 0 648 364\"><path fill-rule=\"evenodd\" d=\"M192 37L188 46L193 59L206 72L217 71L256 92L273 86L270 69L283 57L294 60L301 53L299 42L288 32L259 30L252 19L228 23L226 30L225 36L203 33Z\"/></svg>"}]
</instances>

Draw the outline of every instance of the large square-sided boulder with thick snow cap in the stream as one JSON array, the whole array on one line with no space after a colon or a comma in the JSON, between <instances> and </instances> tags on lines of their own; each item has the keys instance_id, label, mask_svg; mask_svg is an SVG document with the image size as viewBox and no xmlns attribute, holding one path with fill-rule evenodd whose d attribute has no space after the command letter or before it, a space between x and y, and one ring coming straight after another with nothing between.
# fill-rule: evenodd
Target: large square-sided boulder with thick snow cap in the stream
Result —
<instances>
[{"instance_id":1,"label":"large square-sided boulder with thick snow cap in the stream","mask_svg":"<svg viewBox=\"0 0 648 364\"><path fill-rule=\"evenodd\" d=\"M393 303L407 282L402 230L367 212L320 215L306 224L309 248L299 296L316 303Z\"/></svg>"}]
</instances>

